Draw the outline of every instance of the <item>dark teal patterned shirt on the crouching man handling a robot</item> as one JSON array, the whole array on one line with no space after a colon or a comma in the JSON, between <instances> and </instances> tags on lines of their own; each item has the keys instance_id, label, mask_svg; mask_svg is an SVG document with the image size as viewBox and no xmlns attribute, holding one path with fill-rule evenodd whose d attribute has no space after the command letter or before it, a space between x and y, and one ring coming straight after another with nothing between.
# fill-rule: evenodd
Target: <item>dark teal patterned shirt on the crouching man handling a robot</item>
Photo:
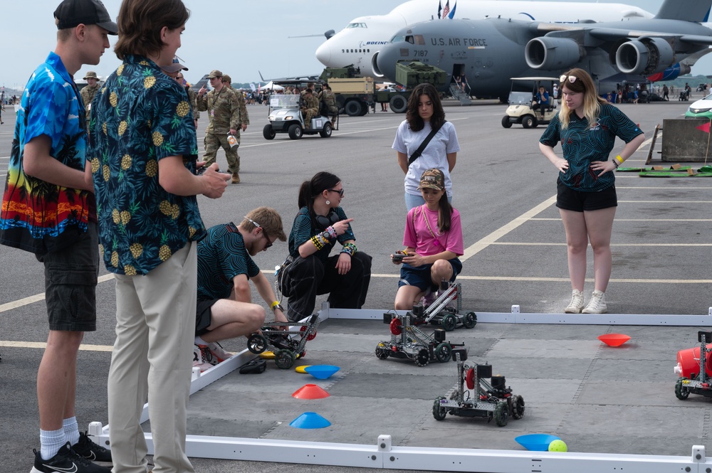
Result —
<instances>
[{"instance_id":1,"label":"dark teal patterned shirt on the crouching man handling a robot","mask_svg":"<svg viewBox=\"0 0 712 473\"><path fill-rule=\"evenodd\" d=\"M198 242L198 299L229 299L238 275L260 272L234 223L215 225Z\"/></svg>"}]
</instances>

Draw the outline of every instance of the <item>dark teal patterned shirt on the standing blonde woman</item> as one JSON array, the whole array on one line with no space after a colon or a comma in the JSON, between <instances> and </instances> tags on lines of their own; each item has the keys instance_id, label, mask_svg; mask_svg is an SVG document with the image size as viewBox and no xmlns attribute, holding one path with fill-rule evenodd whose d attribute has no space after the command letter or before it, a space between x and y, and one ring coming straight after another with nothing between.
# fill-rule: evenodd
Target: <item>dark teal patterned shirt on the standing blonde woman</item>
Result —
<instances>
[{"instance_id":1,"label":"dark teal patterned shirt on the standing blonde woman","mask_svg":"<svg viewBox=\"0 0 712 473\"><path fill-rule=\"evenodd\" d=\"M564 159L569 161L569 169L559 172L559 179L575 191L603 191L615 184L615 173L607 172L597 176L591 170L591 161L608 161L616 137L629 143L642 134L642 130L623 112L610 104L601 105L597 122L590 126L588 120L571 112L569 126L561 127L559 114L551 120L539 142L555 147L561 142Z\"/></svg>"}]
</instances>

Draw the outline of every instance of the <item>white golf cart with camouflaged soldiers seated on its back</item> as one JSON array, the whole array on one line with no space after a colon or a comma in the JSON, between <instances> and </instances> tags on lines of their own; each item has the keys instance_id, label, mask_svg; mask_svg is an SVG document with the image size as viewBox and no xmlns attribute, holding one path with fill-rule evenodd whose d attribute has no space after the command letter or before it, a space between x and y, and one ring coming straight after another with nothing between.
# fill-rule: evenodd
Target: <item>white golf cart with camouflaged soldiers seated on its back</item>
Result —
<instances>
[{"instance_id":1,"label":"white golf cart with camouflaged soldiers seated on its back","mask_svg":"<svg viewBox=\"0 0 712 473\"><path fill-rule=\"evenodd\" d=\"M279 84L286 83L280 82ZM294 84L303 87L302 83ZM316 94L317 91L315 90L314 93ZM290 139L300 139L304 134L320 134L322 138L328 138L333 129L338 129L332 124L329 117L324 115L324 107L321 102L319 115L315 115L309 123L305 123L304 114L300 110L301 101L301 95L271 95L268 108L269 124L266 124L262 129L263 137L274 139L277 133L287 133Z\"/></svg>"}]
</instances>

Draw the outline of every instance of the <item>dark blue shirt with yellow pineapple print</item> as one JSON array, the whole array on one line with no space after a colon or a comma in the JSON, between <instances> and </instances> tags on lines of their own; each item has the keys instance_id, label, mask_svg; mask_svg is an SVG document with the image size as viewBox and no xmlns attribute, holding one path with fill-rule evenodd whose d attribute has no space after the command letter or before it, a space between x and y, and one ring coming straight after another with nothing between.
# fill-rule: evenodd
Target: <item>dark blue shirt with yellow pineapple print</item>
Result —
<instances>
[{"instance_id":1,"label":"dark blue shirt with yellow pineapple print","mask_svg":"<svg viewBox=\"0 0 712 473\"><path fill-rule=\"evenodd\" d=\"M205 235L195 196L159 184L158 161L183 156L195 171L198 146L188 95L152 60L127 55L92 102L90 148L106 269L146 275Z\"/></svg>"}]
</instances>

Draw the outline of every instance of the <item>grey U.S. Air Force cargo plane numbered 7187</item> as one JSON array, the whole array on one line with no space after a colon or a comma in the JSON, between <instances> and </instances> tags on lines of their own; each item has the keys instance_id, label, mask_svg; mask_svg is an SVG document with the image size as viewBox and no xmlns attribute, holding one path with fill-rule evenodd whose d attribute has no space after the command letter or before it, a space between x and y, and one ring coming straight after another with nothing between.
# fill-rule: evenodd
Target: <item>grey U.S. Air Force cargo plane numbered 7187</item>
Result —
<instances>
[{"instance_id":1,"label":"grey U.S. Air Force cargo plane numbered 7187","mask_svg":"<svg viewBox=\"0 0 712 473\"><path fill-rule=\"evenodd\" d=\"M651 19L561 24L486 20L424 21L404 28L374 57L377 77L394 80L398 61L420 61L451 78L465 75L471 95L506 101L509 78L583 68L614 90L624 80L666 80L689 67L712 45L712 0L664 0ZM611 88L612 87L612 88Z\"/></svg>"}]
</instances>

